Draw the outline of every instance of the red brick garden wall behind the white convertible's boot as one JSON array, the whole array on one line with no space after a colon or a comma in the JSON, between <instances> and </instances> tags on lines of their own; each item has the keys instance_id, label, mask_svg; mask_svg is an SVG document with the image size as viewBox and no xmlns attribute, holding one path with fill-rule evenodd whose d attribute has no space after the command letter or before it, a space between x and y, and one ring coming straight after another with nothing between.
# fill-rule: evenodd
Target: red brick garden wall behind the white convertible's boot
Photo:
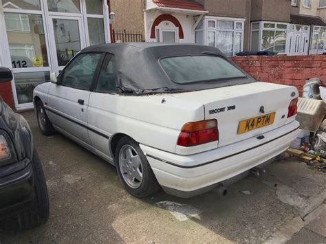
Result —
<instances>
[{"instance_id":1,"label":"red brick garden wall behind the white convertible's boot","mask_svg":"<svg viewBox=\"0 0 326 244\"><path fill-rule=\"evenodd\" d=\"M320 78L326 86L326 55L237 56L232 60L257 80L296 86L301 96L306 79Z\"/></svg>"}]
</instances>

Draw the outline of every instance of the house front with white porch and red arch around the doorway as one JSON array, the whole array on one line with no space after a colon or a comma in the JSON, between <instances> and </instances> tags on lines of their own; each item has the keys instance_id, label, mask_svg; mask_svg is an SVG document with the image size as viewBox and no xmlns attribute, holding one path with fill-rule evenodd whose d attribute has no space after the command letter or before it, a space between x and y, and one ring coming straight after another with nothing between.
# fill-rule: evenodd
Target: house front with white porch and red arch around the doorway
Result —
<instances>
[{"instance_id":1,"label":"house front with white porch and red arch around the doorway","mask_svg":"<svg viewBox=\"0 0 326 244\"><path fill-rule=\"evenodd\" d=\"M195 43L195 28L208 13L189 0L112 0L111 8L118 20L113 30L141 33L147 42Z\"/></svg>"}]
</instances>

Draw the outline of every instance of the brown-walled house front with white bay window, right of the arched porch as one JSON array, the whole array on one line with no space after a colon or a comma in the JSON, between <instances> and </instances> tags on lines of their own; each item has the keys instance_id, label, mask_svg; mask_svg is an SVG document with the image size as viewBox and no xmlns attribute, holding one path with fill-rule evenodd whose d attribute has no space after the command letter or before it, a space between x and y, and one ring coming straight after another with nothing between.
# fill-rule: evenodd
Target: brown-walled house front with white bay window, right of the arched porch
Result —
<instances>
[{"instance_id":1,"label":"brown-walled house front with white bay window, right of the arched porch","mask_svg":"<svg viewBox=\"0 0 326 244\"><path fill-rule=\"evenodd\" d=\"M195 43L215 46L227 56L248 50L250 34L250 0L205 0L208 10L197 25Z\"/></svg>"}]
</instances>

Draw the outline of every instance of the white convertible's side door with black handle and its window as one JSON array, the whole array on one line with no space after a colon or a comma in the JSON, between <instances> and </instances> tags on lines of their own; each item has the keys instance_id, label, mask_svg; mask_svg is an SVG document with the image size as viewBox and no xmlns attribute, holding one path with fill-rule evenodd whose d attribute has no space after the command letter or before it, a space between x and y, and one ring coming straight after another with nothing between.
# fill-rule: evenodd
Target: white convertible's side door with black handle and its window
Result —
<instances>
[{"instance_id":1,"label":"white convertible's side door with black handle and its window","mask_svg":"<svg viewBox=\"0 0 326 244\"><path fill-rule=\"evenodd\" d=\"M45 109L58 129L90 144L87 131L87 107L90 87L102 54L78 54L51 84Z\"/></svg>"}]
</instances>

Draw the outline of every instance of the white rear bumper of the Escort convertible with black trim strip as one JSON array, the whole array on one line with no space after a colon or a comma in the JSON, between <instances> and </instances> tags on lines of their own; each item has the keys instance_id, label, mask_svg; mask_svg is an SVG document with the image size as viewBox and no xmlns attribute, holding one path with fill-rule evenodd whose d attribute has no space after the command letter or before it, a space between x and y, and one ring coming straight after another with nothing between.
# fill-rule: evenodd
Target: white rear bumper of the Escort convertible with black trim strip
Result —
<instances>
[{"instance_id":1,"label":"white rear bumper of the Escort convertible with black trim strip","mask_svg":"<svg viewBox=\"0 0 326 244\"><path fill-rule=\"evenodd\" d=\"M298 135L297 121L252 137L195 155L175 155L140 145L159 184L171 195L193 197L222 181L237 177L283 153Z\"/></svg>"}]
</instances>

